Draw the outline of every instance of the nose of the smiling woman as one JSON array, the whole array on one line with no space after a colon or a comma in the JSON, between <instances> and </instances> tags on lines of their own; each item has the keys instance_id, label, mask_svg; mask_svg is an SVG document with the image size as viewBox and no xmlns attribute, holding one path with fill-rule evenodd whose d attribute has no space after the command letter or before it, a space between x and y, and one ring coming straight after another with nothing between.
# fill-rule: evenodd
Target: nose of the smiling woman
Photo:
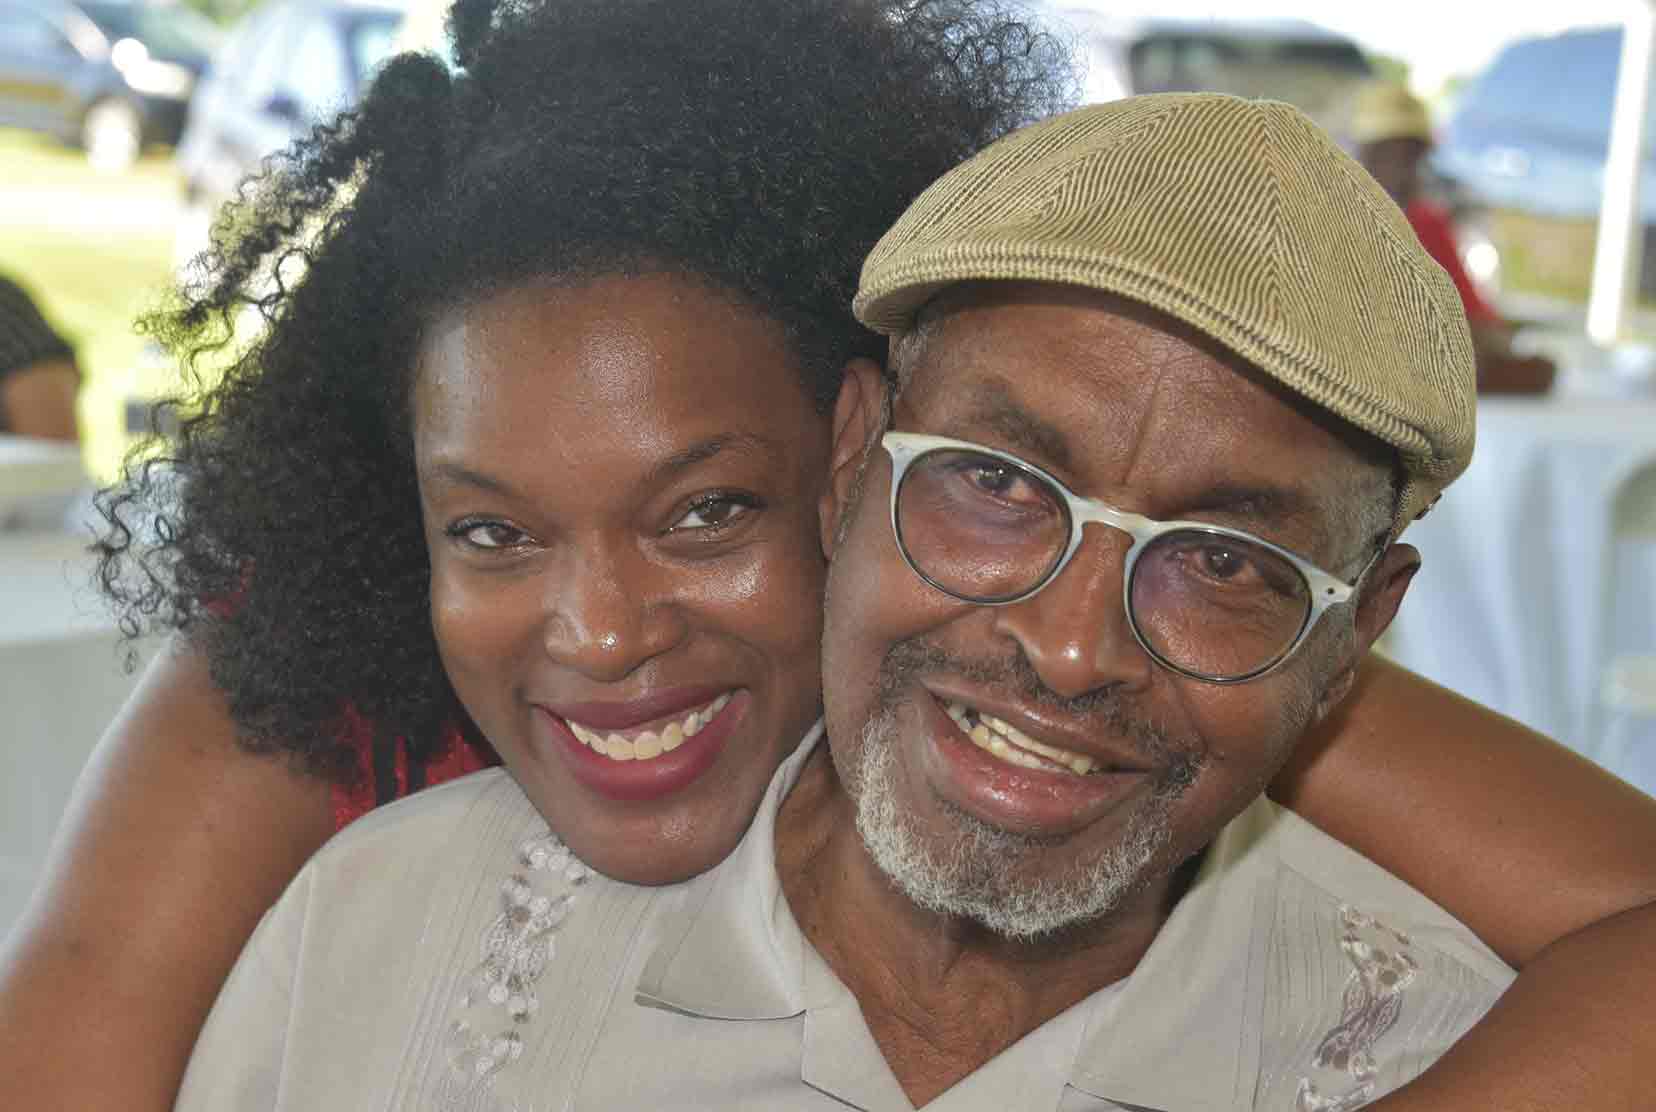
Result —
<instances>
[{"instance_id":1,"label":"nose of the smiling woman","mask_svg":"<svg viewBox=\"0 0 1656 1112\"><path fill-rule=\"evenodd\" d=\"M684 616L662 570L638 552L561 562L545 603L546 655L593 683L616 683L679 645Z\"/></svg>"}]
</instances>

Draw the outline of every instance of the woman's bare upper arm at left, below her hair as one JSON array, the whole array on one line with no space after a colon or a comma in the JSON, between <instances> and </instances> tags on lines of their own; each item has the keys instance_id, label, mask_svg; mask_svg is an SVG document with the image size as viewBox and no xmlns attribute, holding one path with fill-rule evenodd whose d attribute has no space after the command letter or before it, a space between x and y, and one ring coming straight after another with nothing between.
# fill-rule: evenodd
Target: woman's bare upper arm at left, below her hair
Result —
<instances>
[{"instance_id":1,"label":"woman's bare upper arm at left, below her hair","mask_svg":"<svg viewBox=\"0 0 1656 1112\"><path fill-rule=\"evenodd\" d=\"M330 834L328 784L243 752L205 660L169 645L0 950L8 1107L171 1109L230 965Z\"/></svg>"}]
</instances>

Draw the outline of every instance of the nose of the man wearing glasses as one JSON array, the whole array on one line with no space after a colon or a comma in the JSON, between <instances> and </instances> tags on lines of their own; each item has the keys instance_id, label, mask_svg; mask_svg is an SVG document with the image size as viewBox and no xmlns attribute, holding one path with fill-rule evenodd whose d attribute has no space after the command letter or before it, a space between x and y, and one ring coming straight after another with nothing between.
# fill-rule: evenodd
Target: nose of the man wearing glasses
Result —
<instances>
[{"instance_id":1,"label":"nose of the man wearing glasses","mask_svg":"<svg viewBox=\"0 0 1656 1112\"><path fill-rule=\"evenodd\" d=\"M1129 547L1131 537L1090 525L1047 587L995 610L995 631L1017 640L1042 681L1061 696L1149 683L1156 663L1133 636L1121 593Z\"/></svg>"}]
</instances>

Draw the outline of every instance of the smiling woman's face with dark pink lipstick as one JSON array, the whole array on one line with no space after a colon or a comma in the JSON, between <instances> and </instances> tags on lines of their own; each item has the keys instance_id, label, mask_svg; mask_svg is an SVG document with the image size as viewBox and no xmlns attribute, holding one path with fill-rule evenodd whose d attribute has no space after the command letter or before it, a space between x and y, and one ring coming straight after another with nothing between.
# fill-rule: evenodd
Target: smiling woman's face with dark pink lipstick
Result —
<instances>
[{"instance_id":1,"label":"smiling woman's face with dark pink lipstick","mask_svg":"<svg viewBox=\"0 0 1656 1112\"><path fill-rule=\"evenodd\" d=\"M780 326L646 273L527 283L421 345L444 666L588 863L727 853L818 714L828 421Z\"/></svg>"}]
</instances>

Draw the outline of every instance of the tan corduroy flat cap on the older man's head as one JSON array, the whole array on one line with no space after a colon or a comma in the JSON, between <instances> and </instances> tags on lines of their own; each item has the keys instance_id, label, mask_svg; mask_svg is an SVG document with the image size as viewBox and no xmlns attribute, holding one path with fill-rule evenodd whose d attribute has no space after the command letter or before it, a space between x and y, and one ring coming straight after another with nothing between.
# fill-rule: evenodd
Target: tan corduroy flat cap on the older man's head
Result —
<instances>
[{"instance_id":1,"label":"tan corduroy flat cap on the older man's head","mask_svg":"<svg viewBox=\"0 0 1656 1112\"><path fill-rule=\"evenodd\" d=\"M1472 456L1461 297L1386 192L1288 104L1167 93L1023 128L874 245L854 312L898 335L946 287L1080 285L1151 305L1391 444L1393 534Z\"/></svg>"}]
</instances>

